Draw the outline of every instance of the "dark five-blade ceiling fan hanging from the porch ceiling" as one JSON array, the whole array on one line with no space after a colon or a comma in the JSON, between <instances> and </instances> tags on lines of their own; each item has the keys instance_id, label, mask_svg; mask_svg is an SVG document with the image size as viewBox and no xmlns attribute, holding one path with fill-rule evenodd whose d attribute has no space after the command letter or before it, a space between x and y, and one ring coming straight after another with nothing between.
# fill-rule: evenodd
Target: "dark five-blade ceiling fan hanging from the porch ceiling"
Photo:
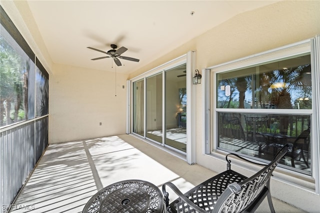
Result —
<instances>
[{"instance_id":1,"label":"dark five-blade ceiling fan hanging from the porch ceiling","mask_svg":"<svg viewBox=\"0 0 320 213\"><path fill-rule=\"evenodd\" d=\"M112 57L117 66L122 65L118 58L139 62L139 59L136 59L133 57L121 56L121 54L127 50L127 48L125 48L124 46L121 46L118 49L116 49L117 45L115 45L115 44L111 44L110 46L112 49L108 50L107 52L88 46L87 48L89 48L89 49L93 49L93 50L107 54L107 56L96 57L96 58L92 58L91 60L98 60L98 59L102 59L102 58Z\"/></svg>"}]
</instances>

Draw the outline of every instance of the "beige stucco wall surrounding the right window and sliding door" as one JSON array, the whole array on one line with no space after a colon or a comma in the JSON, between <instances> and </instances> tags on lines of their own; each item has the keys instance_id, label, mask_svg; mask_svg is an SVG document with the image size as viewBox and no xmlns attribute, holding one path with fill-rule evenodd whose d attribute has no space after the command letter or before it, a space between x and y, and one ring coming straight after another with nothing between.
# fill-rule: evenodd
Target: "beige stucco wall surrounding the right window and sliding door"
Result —
<instances>
[{"instance_id":1,"label":"beige stucco wall surrounding the right window and sliding door","mask_svg":"<svg viewBox=\"0 0 320 213\"><path fill-rule=\"evenodd\" d=\"M190 40L163 57L130 74L130 78L165 63L190 50L196 50L199 70L223 62L308 39L320 33L320 1L280 1L234 16L226 22ZM196 162L214 171L225 169L225 162L202 154L202 91L196 85ZM236 167L235 167L236 168ZM242 169L243 168L238 168ZM247 171L247 175L252 172ZM278 174L280 175L280 174ZM281 175L280 175L281 176ZM282 179L281 179L282 178ZM308 212L318 212L320 196L284 181L289 175L271 181L271 194ZM290 176L294 181L295 177ZM308 179L308 178L306 178ZM309 178L310 179L310 178ZM305 185L310 185L306 181ZM311 185L312 183L311 180Z\"/></svg>"}]
</instances>

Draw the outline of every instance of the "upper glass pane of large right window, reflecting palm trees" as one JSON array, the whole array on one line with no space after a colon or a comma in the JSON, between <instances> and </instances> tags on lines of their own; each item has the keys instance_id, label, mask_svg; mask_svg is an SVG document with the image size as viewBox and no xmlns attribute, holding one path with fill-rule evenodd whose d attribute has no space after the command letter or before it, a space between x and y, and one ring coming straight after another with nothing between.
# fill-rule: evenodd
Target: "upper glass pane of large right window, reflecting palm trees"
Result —
<instances>
[{"instance_id":1,"label":"upper glass pane of large right window, reflecting palm trees","mask_svg":"<svg viewBox=\"0 0 320 213\"><path fill-rule=\"evenodd\" d=\"M218 73L217 108L311 109L310 55Z\"/></svg>"}]
</instances>

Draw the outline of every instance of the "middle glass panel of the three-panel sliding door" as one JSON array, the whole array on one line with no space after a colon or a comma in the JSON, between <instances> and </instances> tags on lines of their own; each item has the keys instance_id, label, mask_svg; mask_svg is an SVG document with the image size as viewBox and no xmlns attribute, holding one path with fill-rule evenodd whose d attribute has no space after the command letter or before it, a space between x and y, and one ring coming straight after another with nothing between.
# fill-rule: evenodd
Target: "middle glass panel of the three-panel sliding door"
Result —
<instances>
[{"instance_id":1,"label":"middle glass panel of the three-panel sliding door","mask_svg":"<svg viewBox=\"0 0 320 213\"><path fill-rule=\"evenodd\" d=\"M162 73L146 78L146 137L162 143Z\"/></svg>"}]
</instances>

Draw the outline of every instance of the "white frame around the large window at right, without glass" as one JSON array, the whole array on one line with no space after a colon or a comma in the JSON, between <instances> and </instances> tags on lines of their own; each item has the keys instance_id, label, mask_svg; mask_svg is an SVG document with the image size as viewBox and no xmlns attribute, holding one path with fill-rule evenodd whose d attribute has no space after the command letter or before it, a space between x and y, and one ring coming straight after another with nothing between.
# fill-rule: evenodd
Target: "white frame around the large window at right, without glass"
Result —
<instances>
[{"instance_id":1,"label":"white frame around the large window at right, without glass","mask_svg":"<svg viewBox=\"0 0 320 213\"><path fill-rule=\"evenodd\" d=\"M307 189L311 189L315 193L319 194L320 191L320 179L319 179L319 171L320 171L320 153L319 153L319 147L320 147L320 132L316 129L319 129L320 127L320 68L319 68L319 56L320 56L320 36L317 35L315 38L302 40L293 44L285 45L282 47L278 47L275 49L271 49L268 51L264 51L261 53L257 53L254 55L250 55L247 57L239 58L236 60L228 61L225 63L217 64L211 67L208 67L206 69L203 69L202 72L206 74L207 76L210 75L210 82L204 81L202 85L202 92L204 94L203 98L203 121L205 128L203 130L203 150L202 153L204 154L210 154L210 155L216 155L218 156L223 151L217 149L217 135L216 132L216 117L215 114L217 111L232 111L232 109L219 109L216 108L216 100L214 97L216 94L216 80L215 75L218 72L223 71L229 71L239 68L244 68L247 66L252 66L254 64L260 64L264 62L271 62L273 60L277 59L284 59L287 57L292 57L294 55L299 54L305 54L310 52L311 56L311 70L312 70L312 109L305 110L303 113L307 112L307 114L311 115L311 128L313 131L311 131L311 156L312 156L312 173L311 176L300 174L294 171L288 171L287 169L285 172L288 172L289 174L293 174L296 177L300 177L300 181L294 182L294 184L298 184L300 186L305 186L308 183L311 182L310 186L305 186ZM209 71L208 71L209 70ZM212 92L210 94L210 91ZM211 107L211 108L210 108ZM210 110L211 109L211 110ZM240 109L242 110L242 109ZM247 111L243 109L243 111ZM250 112L260 112L259 109L250 109ZM209 114L209 118L208 115ZM210 142L206 141L206 138L209 138ZM287 176L287 175L284 175ZM285 178L285 177L284 177ZM302 179L308 179L305 183ZM291 180L284 180L284 181L291 181ZM314 183L312 183L314 182Z\"/></svg>"}]
</instances>

